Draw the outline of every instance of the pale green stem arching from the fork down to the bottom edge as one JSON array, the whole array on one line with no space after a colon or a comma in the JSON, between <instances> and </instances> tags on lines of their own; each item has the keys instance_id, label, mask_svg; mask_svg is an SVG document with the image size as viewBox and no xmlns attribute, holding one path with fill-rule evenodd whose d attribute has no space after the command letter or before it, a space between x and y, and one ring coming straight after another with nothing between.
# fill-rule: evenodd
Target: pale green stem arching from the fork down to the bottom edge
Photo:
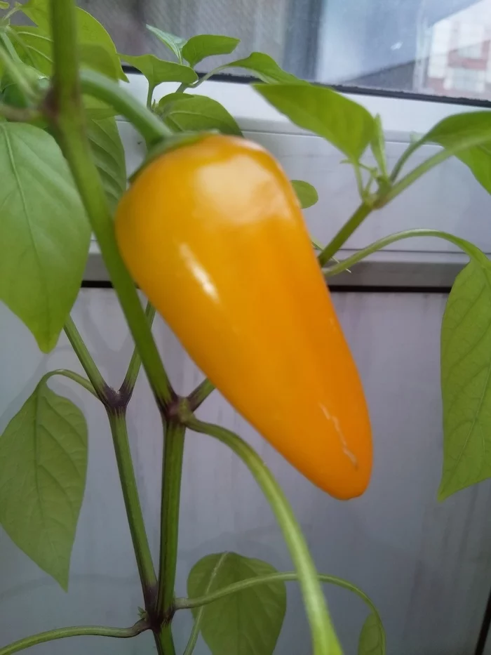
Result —
<instances>
[{"instance_id":1,"label":"pale green stem arching from the fork down to the bottom edge","mask_svg":"<svg viewBox=\"0 0 491 655\"><path fill-rule=\"evenodd\" d=\"M340 655L341 647L332 627L309 548L290 503L285 498L276 479L271 475L260 456L234 432L226 430L220 425L203 423L192 415L186 417L185 423L191 430L203 432L218 439L233 450L248 467L276 515L276 520L283 531L285 543L288 545L292 561L295 564L311 627L314 655Z\"/></svg>"}]
</instances>

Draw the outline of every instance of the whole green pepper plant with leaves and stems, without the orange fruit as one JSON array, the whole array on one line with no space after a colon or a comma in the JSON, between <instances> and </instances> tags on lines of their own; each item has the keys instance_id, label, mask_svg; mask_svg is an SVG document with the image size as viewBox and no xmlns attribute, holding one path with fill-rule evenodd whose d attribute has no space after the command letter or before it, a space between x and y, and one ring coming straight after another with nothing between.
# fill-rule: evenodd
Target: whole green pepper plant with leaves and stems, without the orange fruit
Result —
<instances>
[{"instance_id":1,"label":"whole green pepper plant with leaves and stems, without the orange fruit","mask_svg":"<svg viewBox=\"0 0 491 655\"><path fill-rule=\"evenodd\" d=\"M86 373L47 373L1 435L0 523L19 548L62 588L68 588L88 435L81 411L55 394L48 381L53 376L70 378L107 411L144 599L140 618L129 628L60 627L1 646L0 655L64 637L129 638L147 630L152 631L160 655L176 655L173 617L183 610L194 615L185 655L192 653L200 633L213 655L229 655L230 644L241 654L271 655L285 614L287 581L300 583L314 655L342 652L323 597L323 583L347 588L368 604L370 614L361 630L358 655L384 654L384 628L377 609L349 582L318 574L288 500L260 457L238 435L196 418L195 411L213 392L213 384L205 379L186 397L173 390L152 336L155 310L152 305L146 310L142 307L114 234L114 213L127 185L114 116L123 115L140 131L149 161L194 143L203 132L240 137L236 121L220 103L192 91L217 70L241 67L261 81L254 84L257 93L298 126L328 140L353 166L360 205L329 244L314 244L326 279L410 237L448 239L469 256L443 318L445 441L439 492L443 499L491 476L485 457L491 407L489 260L463 239L422 229L390 234L342 262L335 256L370 213L449 157L459 157L491 192L491 114L475 112L444 119L415 140L389 171L379 117L329 88L284 72L268 55L252 53L199 77L196 65L210 55L231 55L238 39L203 34L184 40L149 27L173 59L134 57L117 53L105 29L76 8L73 0L30 0L13 6L1 1L0 8L4 12L0 20L0 298L29 328L43 352L52 350L65 331ZM18 12L33 25L11 24ZM147 107L124 88L121 61L147 77ZM180 86L154 102L155 88L163 81ZM412 168L411 155L426 143L437 143L441 149ZM362 160L368 149L375 158L373 167ZM304 206L316 201L316 192L307 183L293 180L293 186ZM91 232L135 341L119 389L107 385L70 317ZM152 560L149 549L126 425L126 409L141 366L159 407L164 435L159 562ZM212 553L191 570L188 597L176 596L180 478L187 429L218 439L249 468L271 504L295 571L278 572L267 562L238 553ZM236 631L236 621L231 621L238 615L241 633Z\"/></svg>"}]
</instances>

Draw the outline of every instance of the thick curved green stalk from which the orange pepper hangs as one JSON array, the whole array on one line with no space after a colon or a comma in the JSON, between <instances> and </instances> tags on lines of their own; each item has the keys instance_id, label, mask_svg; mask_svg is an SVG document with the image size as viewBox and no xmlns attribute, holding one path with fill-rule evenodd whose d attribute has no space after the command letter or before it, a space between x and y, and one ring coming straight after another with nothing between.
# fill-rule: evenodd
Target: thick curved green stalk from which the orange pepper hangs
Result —
<instances>
[{"instance_id":1,"label":"thick curved green stalk from which the orange pepper hangs","mask_svg":"<svg viewBox=\"0 0 491 655\"><path fill-rule=\"evenodd\" d=\"M93 70L83 69L80 72L80 83L83 93L107 102L133 123L148 144L173 135L173 132L155 114L114 80L107 79Z\"/></svg>"}]
</instances>

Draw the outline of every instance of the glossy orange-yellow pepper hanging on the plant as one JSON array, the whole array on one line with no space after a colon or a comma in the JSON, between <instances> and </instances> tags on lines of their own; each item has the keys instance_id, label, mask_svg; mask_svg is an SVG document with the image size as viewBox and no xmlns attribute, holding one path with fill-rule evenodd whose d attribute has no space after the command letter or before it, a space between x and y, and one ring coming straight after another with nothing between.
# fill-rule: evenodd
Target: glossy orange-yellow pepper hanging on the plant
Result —
<instances>
[{"instance_id":1,"label":"glossy orange-yellow pepper hanging on the plant","mask_svg":"<svg viewBox=\"0 0 491 655\"><path fill-rule=\"evenodd\" d=\"M288 178L259 145L209 135L152 161L121 199L123 259L184 348L295 468L365 491L368 410Z\"/></svg>"}]
</instances>

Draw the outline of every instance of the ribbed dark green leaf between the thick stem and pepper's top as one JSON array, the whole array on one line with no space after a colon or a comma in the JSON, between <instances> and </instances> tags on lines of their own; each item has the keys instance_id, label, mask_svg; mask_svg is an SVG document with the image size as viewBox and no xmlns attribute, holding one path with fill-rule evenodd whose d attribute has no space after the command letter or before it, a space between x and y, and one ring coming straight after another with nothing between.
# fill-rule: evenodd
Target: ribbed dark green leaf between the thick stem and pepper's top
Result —
<instances>
[{"instance_id":1,"label":"ribbed dark green leaf between the thick stem and pepper's top","mask_svg":"<svg viewBox=\"0 0 491 655\"><path fill-rule=\"evenodd\" d=\"M88 121L88 138L112 211L126 190L123 143L114 118Z\"/></svg>"}]
</instances>

